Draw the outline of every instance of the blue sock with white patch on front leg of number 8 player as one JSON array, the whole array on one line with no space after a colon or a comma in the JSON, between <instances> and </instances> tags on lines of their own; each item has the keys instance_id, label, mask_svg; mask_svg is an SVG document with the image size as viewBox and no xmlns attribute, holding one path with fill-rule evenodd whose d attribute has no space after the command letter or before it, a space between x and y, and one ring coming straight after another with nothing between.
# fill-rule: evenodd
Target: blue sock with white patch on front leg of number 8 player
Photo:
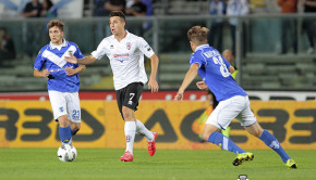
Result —
<instances>
[{"instance_id":1,"label":"blue sock with white patch on front leg of number 8 player","mask_svg":"<svg viewBox=\"0 0 316 180\"><path fill-rule=\"evenodd\" d=\"M245 151L239 147L232 140L218 132L212 132L208 138L208 142L215 143L222 150L233 152L234 154L245 153Z\"/></svg>"}]
</instances>

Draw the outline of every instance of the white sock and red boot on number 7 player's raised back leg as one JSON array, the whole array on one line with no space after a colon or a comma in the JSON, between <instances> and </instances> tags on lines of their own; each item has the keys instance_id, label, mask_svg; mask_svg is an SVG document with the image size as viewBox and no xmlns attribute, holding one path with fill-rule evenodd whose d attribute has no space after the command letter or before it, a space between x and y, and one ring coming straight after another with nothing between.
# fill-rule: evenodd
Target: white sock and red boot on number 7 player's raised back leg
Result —
<instances>
[{"instance_id":1,"label":"white sock and red boot on number 7 player's raised back leg","mask_svg":"<svg viewBox=\"0 0 316 180\"><path fill-rule=\"evenodd\" d=\"M138 134L145 136L148 142L148 153L153 156L156 153L156 139L158 137L157 132L149 131L145 125L136 119L136 132Z\"/></svg>"}]
</instances>

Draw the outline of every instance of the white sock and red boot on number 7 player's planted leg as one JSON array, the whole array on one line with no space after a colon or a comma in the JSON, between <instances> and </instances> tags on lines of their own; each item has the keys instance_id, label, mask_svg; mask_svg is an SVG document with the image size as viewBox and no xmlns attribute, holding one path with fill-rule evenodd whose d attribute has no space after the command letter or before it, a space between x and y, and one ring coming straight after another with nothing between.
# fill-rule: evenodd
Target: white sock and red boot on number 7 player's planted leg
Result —
<instances>
[{"instance_id":1,"label":"white sock and red boot on number 7 player's planted leg","mask_svg":"<svg viewBox=\"0 0 316 180\"><path fill-rule=\"evenodd\" d=\"M133 144L135 139L136 124L135 121L125 121L124 126L126 150L120 157L122 162L133 162Z\"/></svg>"}]
</instances>

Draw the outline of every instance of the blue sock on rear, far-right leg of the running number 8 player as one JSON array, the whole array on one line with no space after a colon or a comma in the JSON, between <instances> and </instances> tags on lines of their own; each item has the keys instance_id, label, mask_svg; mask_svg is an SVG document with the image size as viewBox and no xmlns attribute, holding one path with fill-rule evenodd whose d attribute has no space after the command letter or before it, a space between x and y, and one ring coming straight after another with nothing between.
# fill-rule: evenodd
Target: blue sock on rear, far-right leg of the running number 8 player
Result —
<instances>
[{"instance_id":1,"label":"blue sock on rear, far-right leg of the running number 8 player","mask_svg":"<svg viewBox=\"0 0 316 180\"><path fill-rule=\"evenodd\" d=\"M263 140L275 152L277 152L279 156L282 158L283 163L287 163L287 160L290 157L288 156L285 151L282 149L281 144L278 142L275 136L272 136L269 131L264 130L259 139Z\"/></svg>"}]
</instances>

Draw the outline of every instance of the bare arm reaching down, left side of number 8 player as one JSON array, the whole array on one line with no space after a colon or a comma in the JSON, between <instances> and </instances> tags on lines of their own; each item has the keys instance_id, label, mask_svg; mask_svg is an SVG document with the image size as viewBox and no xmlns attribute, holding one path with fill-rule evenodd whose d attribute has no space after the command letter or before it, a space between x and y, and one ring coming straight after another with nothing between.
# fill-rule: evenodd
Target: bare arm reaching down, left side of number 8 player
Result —
<instances>
[{"instance_id":1,"label":"bare arm reaching down, left side of number 8 player","mask_svg":"<svg viewBox=\"0 0 316 180\"><path fill-rule=\"evenodd\" d=\"M192 80L195 78L195 76L197 75L198 68L199 67L197 63L192 64L192 66L190 67L190 69L187 70L183 79L181 87L178 90L177 95L174 97L174 101L183 100L183 93L185 89L189 87L189 85L192 82Z\"/></svg>"}]
</instances>

